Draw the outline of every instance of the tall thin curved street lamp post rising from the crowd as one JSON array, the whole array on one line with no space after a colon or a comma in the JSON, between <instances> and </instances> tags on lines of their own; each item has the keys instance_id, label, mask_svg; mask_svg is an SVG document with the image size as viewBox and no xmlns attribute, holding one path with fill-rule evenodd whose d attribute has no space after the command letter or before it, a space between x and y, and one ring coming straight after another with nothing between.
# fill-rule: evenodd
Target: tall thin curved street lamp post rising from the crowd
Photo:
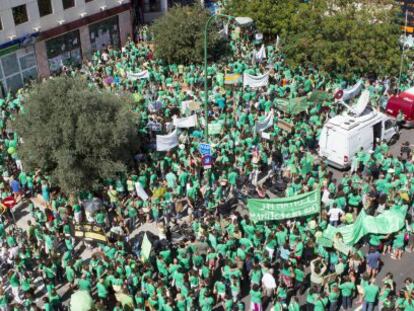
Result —
<instances>
[{"instance_id":1,"label":"tall thin curved street lamp post rising from the crowd","mask_svg":"<svg viewBox=\"0 0 414 311\"><path fill-rule=\"evenodd\" d=\"M211 25L211 22L218 18L227 18L228 20L235 20L239 25L248 25L253 22L250 17L235 17L226 14L216 14L209 17L206 22L206 26L204 27L204 120L205 120L205 127L204 127L204 139L205 142L208 144L208 73L207 73L207 44L208 44L208 29Z\"/></svg>"}]
</instances>

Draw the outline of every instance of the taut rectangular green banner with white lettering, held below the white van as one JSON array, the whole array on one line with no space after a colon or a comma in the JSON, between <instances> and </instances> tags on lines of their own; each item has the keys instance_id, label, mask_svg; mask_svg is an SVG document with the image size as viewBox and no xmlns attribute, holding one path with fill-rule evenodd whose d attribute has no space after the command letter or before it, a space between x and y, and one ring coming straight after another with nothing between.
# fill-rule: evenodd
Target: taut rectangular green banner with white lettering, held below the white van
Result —
<instances>
[{"instance_id":1,"label":"taut rectangular green banner with white lettering, held below the white van","mask_svg":"<svg viewBox=\"0 0 414 311\"><path fill-rule=\"evenodd\" d=\"M247 200L247 207L254 222L303 217L320 212L321 193L318 189L289 198L250 199Z\"/></svg>"}]
</instances>

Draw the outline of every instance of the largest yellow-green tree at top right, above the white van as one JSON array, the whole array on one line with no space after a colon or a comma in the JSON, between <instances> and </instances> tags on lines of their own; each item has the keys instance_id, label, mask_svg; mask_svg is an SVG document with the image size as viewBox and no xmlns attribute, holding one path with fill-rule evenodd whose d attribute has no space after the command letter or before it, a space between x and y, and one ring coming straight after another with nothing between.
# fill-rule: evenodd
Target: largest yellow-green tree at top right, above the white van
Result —
<instances>
[{"instance_id":1,"label":"largest yellow-green tree at top right, above the white van","mask_svg":"<svg viewBox=\"0 0 414 311\"><path fill-rule=\"evenodd\" d=\"M354 0L313 0L292 17L283 50L293 64L313 63L345 74L395 74L400 35L398 6Z\"/></svg>"}]
</instances>

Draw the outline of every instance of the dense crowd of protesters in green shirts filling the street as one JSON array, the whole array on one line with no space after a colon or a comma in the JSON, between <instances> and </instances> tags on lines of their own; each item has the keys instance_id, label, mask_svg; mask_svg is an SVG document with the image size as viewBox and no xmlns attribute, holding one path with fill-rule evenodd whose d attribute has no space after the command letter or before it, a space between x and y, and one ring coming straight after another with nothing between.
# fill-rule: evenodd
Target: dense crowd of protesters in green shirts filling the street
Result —
<instances>
[{"instance_id":1,"label":"dense crowd of protesters in green shirts filling the street","mask_svg":"<svg viewBox=\"0 0 414 311\"><path fill-rule=\"evenodd\" d=\"M391 273L377 276L387 270L383 256L398 264L413 250L410 151L393 156L379 142L375 150L359 152L352 170L341 178L317 155L324 122L343 110L333 99L335 90L363 78L371 105L381 109L396 91L395 79L345 79L319 72L316 66L292 68L275 44L266 45L266 59L252 61L257 52L253 38L234 28L231 55L208 66L208 119L220 126L209 137L213 166L204 169L198 147L206 142L205 116L197 105L182 105L202 102L203 67L165 64L144 37L129 40L122 49L97 51L82 68L64 73L97 88L131 94L141 118L136 169L105 181L101 193L68 197L41 170L24 171L16 151L18 133L7 121L24 109L25 92L0 103L1 198L22 200L31 216L24 230L16 224L13 209L4 208L1 217L0 310L60 311L77 291L92 297L95 310L112 311L335 311L353 310L358 304L364 311L375 306L414 310L409 270L404 284L396 284ZM128 72L143 70L149 78L128 78ZM267 87L225 84L226 73L267 71ZM401 88L411 81L403 76ZM316 92L329 96L311 100ZM298 97L307 98L305 111L280 109L281 100ZM171 130L173 117L194 113L199 125L180 132L179 146L156 151L155 136ZM254 128L269 113L274 113L274 122L265 139ZM293 126L285 128L278 121ZM137 194L136 183L148 199ZM292 197L312 190L321 191L318 215L257 223L249 219L246 198ZM37 196L45 206L30 200ZM92 197L103 205L91 213L85 202ZM408 209L403 228L388 235L368 234L348 253L319 242L328 226L352 224L362 211L376 216L403 208ZM83 223L103 228L108 240L75 238L74 225ZM143 239L137 240L138 247L134 244L143 224L158 230L149 258L142 256ZM84 243L96 247L87 258L80 248Z\"/></svg>"}]
</instances>

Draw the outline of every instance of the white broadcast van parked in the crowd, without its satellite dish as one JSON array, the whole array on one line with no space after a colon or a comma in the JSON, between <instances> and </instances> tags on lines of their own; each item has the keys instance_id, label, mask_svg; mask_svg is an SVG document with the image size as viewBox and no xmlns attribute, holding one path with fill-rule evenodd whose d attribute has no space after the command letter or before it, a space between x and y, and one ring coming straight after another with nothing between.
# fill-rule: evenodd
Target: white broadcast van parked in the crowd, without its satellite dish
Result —
<instances>
[{"instance_id":1,"label":"white broadcast van parked in the crowd, without its satellite dish","mask_svg":"<svg viewBox=\"0 0 414 311\"><path fill-rule=\"evenodd\" d=\"M395 142L398 135L395 121L366 107L360 115L339 115L325 123L319 138L319 155L329 165L346 169L361 148L373 150L378 139Z\"/></svg>"}]
</instances>

